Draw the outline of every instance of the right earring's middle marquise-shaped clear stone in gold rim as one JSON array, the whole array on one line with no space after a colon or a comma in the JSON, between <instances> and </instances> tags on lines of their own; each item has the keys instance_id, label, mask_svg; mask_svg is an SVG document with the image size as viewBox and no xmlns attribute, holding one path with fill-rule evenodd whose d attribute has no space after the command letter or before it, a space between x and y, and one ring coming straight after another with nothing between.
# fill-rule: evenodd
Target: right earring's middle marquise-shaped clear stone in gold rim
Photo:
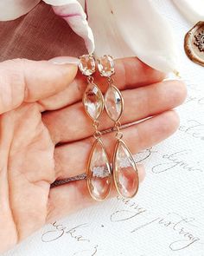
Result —
<instances>
[{"instance_id":1,"label":"right earring's middle marquise-shaped clear stone in gold rim","mask_svg":"<svg viewBox=\"0 0 204 256\"><path fill-rule=\"evenodd\" d=\"M112 121L118 121L123 112L123 98L119 90L111 85L105 93L105 109Z\"/></svg>"}]
</instances>

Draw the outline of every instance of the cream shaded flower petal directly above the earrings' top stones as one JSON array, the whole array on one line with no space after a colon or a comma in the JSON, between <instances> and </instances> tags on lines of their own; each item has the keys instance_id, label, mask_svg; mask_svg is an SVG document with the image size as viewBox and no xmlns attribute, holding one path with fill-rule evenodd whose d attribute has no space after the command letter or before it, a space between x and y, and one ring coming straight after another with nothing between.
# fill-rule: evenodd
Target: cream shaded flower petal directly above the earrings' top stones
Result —
<instances>
[{"instance_id":1,"label":"cream shaded flower petal directly above the earrings' top stones","mask_svg":"<svg viewBox=\"0 0 204 256\"><path fill-rule=\"evenodd\" d=\"M120 0L124 1L124 0ZM87 1L88 23L95 40L95 55L110 54L113 57L134 56L118 30L115 16L108 0ZM122 16L123 20L124 17Z\"/></svg>"}]
</instances>

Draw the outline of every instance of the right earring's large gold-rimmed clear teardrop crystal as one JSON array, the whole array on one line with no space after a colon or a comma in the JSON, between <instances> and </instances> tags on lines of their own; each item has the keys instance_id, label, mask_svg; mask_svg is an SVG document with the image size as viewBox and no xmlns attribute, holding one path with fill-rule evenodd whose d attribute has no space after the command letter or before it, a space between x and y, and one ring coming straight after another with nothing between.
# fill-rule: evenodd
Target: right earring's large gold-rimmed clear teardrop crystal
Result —
<instances>
[{"instance_id":1,"label":"right earring's large gold-rimmed clear teardrop crystal","mask_svg":"<svg viewBox=\"0 0 204 256\"><path fill-rule=\"evenodd\" d=\"M118 141L114 159L113 175L118 193L125 198L131 198L137 194L139 178L137 166L130 150L123 141Z\"/></svg>"}]
</instances>

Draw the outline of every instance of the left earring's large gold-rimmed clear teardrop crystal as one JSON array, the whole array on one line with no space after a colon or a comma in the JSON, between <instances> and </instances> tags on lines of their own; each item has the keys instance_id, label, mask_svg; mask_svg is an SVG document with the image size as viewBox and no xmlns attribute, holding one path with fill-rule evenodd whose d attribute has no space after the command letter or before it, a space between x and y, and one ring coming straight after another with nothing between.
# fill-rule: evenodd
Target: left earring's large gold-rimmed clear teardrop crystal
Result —
<instances>
[{"instance_id":1,"label":"left earring's large gold-rimmed clear teardrop crystal","mask_svg":"<svg viewBox=\"0 0 204 256\"><path fill-rule=\"evenodd\" d=\"M92 147L86 176L92 198L105 200L112 188L112 170L103 143L99 139Z\"/></svg>"}]
</instances>

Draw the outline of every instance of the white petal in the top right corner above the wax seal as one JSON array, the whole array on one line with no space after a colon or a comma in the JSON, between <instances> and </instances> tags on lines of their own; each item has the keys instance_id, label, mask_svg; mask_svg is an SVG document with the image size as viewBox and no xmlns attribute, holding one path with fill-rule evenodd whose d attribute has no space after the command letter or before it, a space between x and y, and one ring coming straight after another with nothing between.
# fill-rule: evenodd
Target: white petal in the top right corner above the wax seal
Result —
<instances>
[{"instance_id":1,"label":"white petal in the top right corner above the wax seal","mask_svg":"<svg viewBox=\"0 0 204 256\"><path fill-rule=\"evenodd\" d=\"M172 0L191 23L204 21L204 0Z\"/></svg>"}]
</instances>

